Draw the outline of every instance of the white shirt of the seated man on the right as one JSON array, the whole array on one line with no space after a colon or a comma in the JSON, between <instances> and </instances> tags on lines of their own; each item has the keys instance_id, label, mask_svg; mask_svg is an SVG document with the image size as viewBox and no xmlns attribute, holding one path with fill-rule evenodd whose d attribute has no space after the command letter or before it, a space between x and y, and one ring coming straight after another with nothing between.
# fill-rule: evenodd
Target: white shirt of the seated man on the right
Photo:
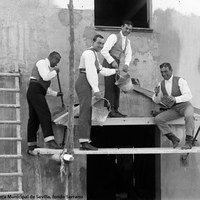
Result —
<instances>
[{"instance_id":1,"label":"white shirt of the seated man on the right","mask_svg":"<svg viewBox=\"0 0 200 200\"><path fill-rule=\"evenodd\" d=\"M169 96L171 96L172 93L172 80L173 75L169 80L165 80L165 88ZM159 83L160 91L157 96L155 94L153 95L152 99L155 103L160 103L161 97L163 97L162 91L161 91L161 83ZM176 103L182 103L186 101L190 101L192 99L192 93L190 91L190 88L187 84L187 81L183 78L179 78L178 86L181 91L181 95L178 97L175 97Z\"/></svg>"}]
</instances>

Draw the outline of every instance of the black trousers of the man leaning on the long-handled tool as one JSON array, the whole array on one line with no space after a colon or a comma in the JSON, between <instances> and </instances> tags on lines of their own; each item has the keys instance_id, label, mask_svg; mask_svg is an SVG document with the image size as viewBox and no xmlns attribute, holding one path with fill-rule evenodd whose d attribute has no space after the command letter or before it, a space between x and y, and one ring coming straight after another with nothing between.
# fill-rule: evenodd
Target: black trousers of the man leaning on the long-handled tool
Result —
<instances>
[{"instance_id":1,"label":"black trousers of the man leaning on the long-handled tool","mask_svg":"<svg viewBox=\"0 0 200 200\"><path fill-rule=\"evenodd\" d=\"M27 91L29 107L28 143L37 142L37 131L41 125L44 138L53 136L51 113L45 98L45 89L37 82L30 82Z\"/></svg>"}]
</instances>

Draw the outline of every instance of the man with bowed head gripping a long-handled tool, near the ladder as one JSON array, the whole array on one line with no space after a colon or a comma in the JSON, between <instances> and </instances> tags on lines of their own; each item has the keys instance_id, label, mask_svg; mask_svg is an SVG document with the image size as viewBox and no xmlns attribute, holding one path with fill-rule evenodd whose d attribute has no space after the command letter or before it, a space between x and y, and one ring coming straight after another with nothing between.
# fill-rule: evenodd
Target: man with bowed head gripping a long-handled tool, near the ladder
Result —
<instances>
[{"instance_id":1,"label":"man with bowed head gripping a long-handled tool, near the ladder","mask_svg":"<svg viewBox=\"0 0 200 200\"><path fill-rule=\"evenodd\" d=\"M32 69L30 83L27 91L27 101L29 107L28 119L28 153L37 146L37 131L41 125L44 135L44 141L47 148L60 148L54 139L51 113L46 101L46 94L52 96L61 96L61 92L53 91L49 88L51 79L59 73L57 64L61 56L57 52L51 52L46 59L39 60Z\"/></svg>"}]
</instances>

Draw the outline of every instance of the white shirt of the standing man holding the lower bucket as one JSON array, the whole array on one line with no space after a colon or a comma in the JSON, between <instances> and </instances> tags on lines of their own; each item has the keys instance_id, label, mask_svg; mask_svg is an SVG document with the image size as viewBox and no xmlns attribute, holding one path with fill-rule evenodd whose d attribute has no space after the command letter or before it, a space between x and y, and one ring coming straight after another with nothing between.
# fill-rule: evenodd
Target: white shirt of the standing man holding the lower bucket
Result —
<instances>
[{"instance_id":1,"label":"white shirt of the standing man holding the lower bucket","mask_svg":"<svg viewBox=\"0 0 200 200\"><path fill-rule=\"evenodd\" d=\"M95 54L97 55L96 52ZM79 68L86 69L86 77L94 93L99 92L99 86L98 86L99 79L98 79L98 73L97 73L95 61L96 61L96 57L94 55L94 52L92 50L86 50L81 55L80 64L79 64ZM98 56L97 56L97 61L99 62ZM101 70L99 74L103 76L110 76L116 73L115 69L104 68L102 67L100 63L99 63L99 68Z\"/></svg>"}]
</instances>

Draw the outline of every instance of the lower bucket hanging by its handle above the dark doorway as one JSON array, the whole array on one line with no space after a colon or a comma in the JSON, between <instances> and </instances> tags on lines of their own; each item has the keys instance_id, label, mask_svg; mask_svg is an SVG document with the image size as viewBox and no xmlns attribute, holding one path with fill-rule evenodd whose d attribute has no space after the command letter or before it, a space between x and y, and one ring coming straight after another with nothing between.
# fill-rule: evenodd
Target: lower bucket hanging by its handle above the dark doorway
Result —
<instances>
[{"instance_id":1,"label":"lower bucket hanging by its handle above the dark doorway","mask_svg":"<svg viewBox=\"0 0 200 200\"><path fill-rule=\"evenodd\" d=\"M105 107L105 101L107 107ZM107 99L101 98L92 105L92 122L103 126L109 112L111 111L110 103Z\"/></svg>"}]
</instances>

